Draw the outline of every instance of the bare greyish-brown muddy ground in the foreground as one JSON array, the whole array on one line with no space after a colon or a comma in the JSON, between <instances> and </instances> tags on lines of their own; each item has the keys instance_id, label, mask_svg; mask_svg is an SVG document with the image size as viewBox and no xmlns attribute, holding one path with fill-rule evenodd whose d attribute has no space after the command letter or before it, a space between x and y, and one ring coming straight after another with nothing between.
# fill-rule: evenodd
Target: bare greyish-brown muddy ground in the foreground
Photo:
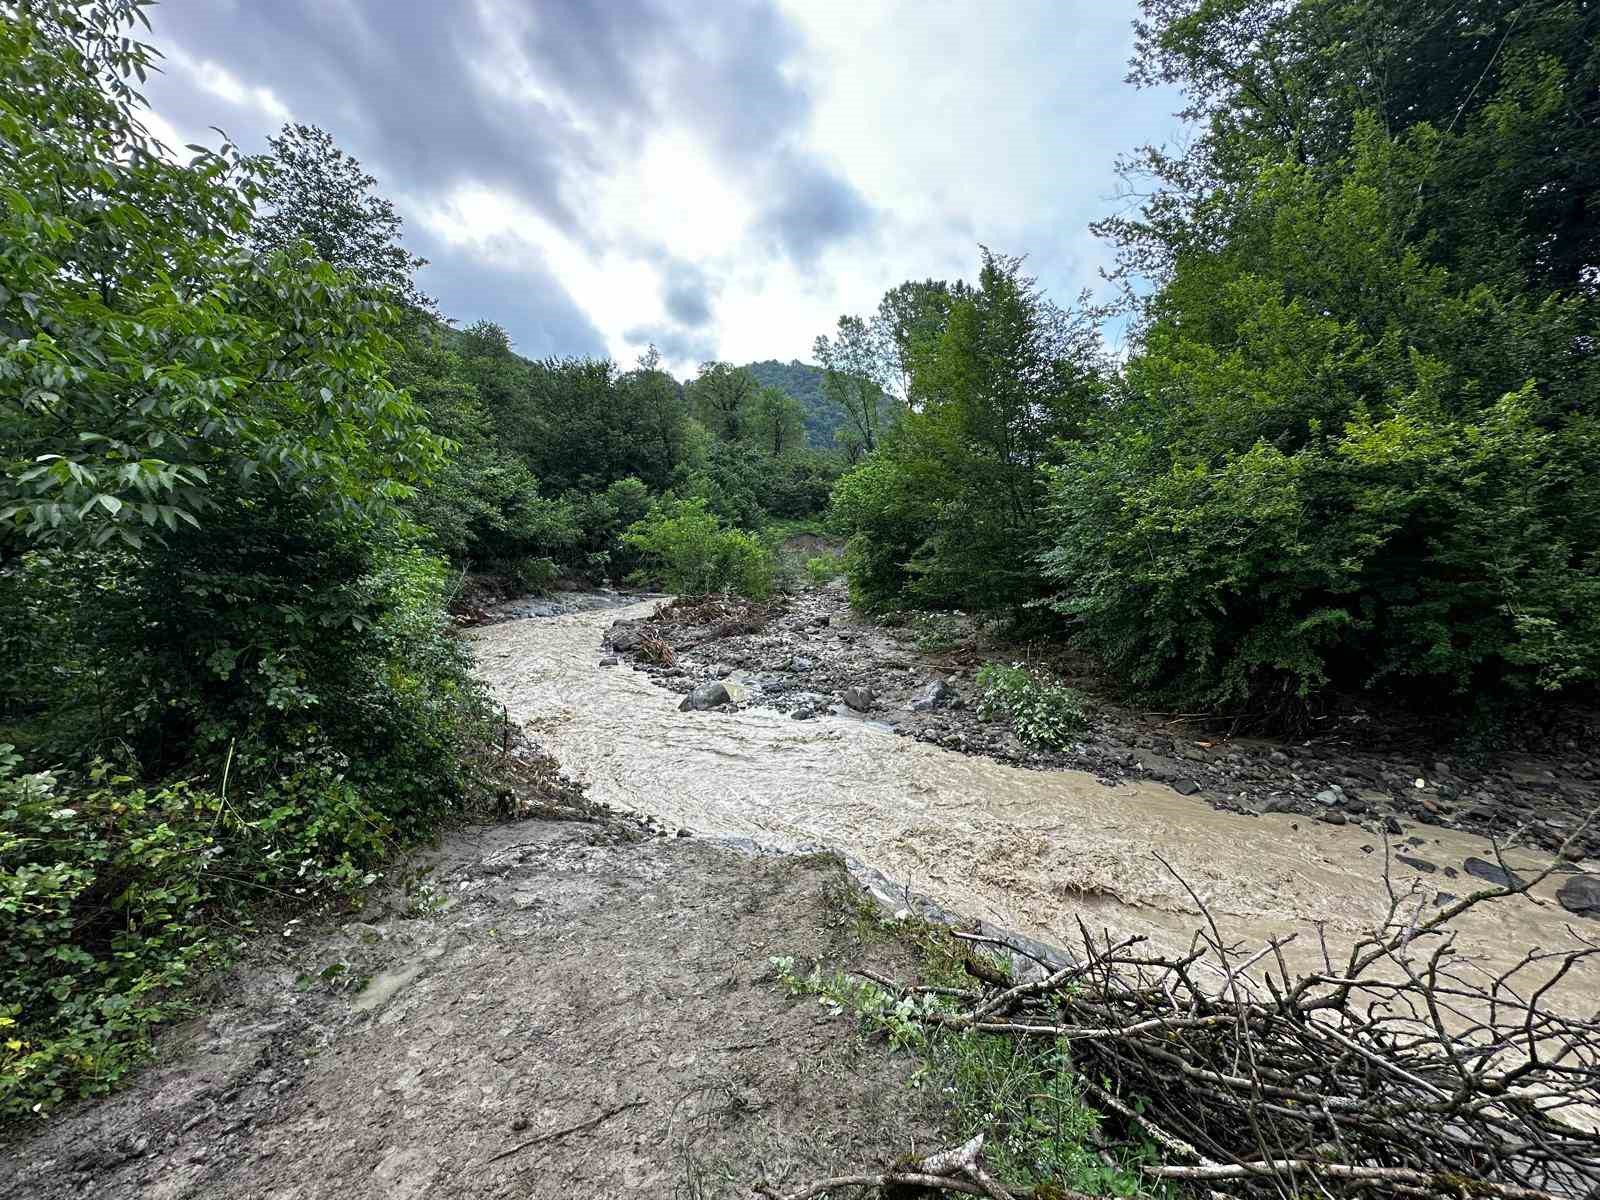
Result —
<instances>
[{"instance_id":1,"label":"bare greyish-brown muddy ground in the foreground","mask_svg":"<svg viewBox=\"0 0 1600 1200\"><path fill-rule=\"evenodd\" d=\"M429 862L256 944L128 1090L0 1147L0 1195L747 1197L941 1141L909 1058L774 986L773 955L910 965L837 859L613 818Z\"/></svg>"}]
</instances>

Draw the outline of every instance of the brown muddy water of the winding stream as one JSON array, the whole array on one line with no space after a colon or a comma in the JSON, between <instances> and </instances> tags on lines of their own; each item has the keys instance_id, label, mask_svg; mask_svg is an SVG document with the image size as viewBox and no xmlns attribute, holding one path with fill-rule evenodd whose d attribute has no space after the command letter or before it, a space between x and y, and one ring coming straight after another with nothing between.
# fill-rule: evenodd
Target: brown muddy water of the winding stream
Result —
<instances>
[{"instance_id":1,"label":"brown muddy water of the winding stream","mask_svg":"<svg viewBox=\"0 0 1600 1200\"><path fill-rule=\"evenodd\" d=\"M1355 826L1218 813L1166 787L1024 771L848 717L678 712L678 698L645 675L598 666L611 621L648 611L514 621L474 634L478 672L595 800L699 834L832 846L946 907L1056 944L1077 939L1077 918L1168 947L1187 944L1198 909L1157 854L1226 933L1245 941L1320 922L1338 946L1386 907L1382 842ZM1416 832L1427 845L1402 850L1440 867L1459 869L1469 854L1493 859L1482 838ZM1542 862L1517 851L1506 858L1518 869ZM1424 914L1438 890L1483 886L1398 862L1392 877L1418 890ZM1461 949L1493 965L1533 946L1571 946L1573 918L1554 901L1557 883L1469 912ZM1314 944L1302 934L1291 957L1309 963ZM1597 994L1594 973L1571 981L1574 998Z\"/></svg>"}]
</instances>

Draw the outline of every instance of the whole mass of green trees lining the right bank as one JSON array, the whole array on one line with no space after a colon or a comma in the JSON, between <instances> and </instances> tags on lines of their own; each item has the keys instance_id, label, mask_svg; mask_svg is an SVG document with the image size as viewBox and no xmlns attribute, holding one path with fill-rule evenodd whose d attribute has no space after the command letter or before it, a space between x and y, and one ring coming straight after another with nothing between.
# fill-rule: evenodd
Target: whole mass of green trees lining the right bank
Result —
<instances>
[{"instance_id":1,"label":"whole mass of green trees lining the right bank","mask_svg":"<svg viewBox=\"0 0 1600 1200\"><path fill-rule=\"evenodd\" d=\"M1186 710L1592 693L1600 18L1446 8L1144 0L1194 138L1099 226L1126 358L987 251L840 322L899 400L834 490L861 603L1051 611Z\"/></svg>"}]
</instances>

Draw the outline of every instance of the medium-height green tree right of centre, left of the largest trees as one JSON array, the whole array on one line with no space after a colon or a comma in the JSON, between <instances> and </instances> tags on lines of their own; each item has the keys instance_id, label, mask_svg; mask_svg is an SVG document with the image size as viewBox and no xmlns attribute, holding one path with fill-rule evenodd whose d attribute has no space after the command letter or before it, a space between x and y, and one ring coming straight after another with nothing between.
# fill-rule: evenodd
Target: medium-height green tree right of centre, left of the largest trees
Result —
<instances>
[{"instance_id":1,"label":"medium-height green tree right of centre, left of the largest trees","mask_svg":"<svg viewBox=\"0 0 1600 1200\"><path fill-rule=\"evenodd\" d=\"M994 610L1037 595L1040 469L1102 387L1093 326L1051 306L1019 259L984 251L978 286L946 312L938 336L907 342L917 408L834 491L853 590L874 606Z\"/></svg>"}]
</instances>

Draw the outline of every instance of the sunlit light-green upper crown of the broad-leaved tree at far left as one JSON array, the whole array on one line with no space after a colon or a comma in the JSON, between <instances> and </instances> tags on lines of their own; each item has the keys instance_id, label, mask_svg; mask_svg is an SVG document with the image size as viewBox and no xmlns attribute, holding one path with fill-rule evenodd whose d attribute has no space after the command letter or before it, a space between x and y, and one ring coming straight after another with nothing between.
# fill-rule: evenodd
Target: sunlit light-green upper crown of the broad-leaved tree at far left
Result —
<instances>
[{"instance_id":1,"label":"sunlit light-green upper crown of the broad-leaved tree at far left","mask_svg":"<svg viewBox=\"0 0 1600 1200\"><path fill-rule=\"evenodd\" d=\"M45 6L0 27L0 522L141 546L224 494L392 509L438 445L386 376L394 312L304 250L242 254L258 165L158 152L149 48Z\"/></svg>"}]
</instances>

